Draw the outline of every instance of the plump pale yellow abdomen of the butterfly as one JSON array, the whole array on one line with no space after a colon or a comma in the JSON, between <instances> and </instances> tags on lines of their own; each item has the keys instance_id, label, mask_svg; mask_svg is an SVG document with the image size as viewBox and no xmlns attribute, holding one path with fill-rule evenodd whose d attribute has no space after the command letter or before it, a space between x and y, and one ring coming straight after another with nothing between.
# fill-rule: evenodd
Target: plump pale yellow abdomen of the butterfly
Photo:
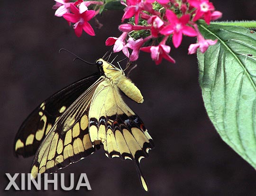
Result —
<instances>
[{"instance_id":1,"label":"plump pale yellow abdomen of the butterfly","mask_svg":"<svg viewBox=\"0 0 256 196\"><path fill-rule=\"evenodd\" d=\"M119 83L117 83L117 87L122 90L128 98L136 101L137 103L143 103L144 99L141 95L140 90L132 83L131 80L126 78L125 76L119 78Z\"/></svg>"}]
</instances>

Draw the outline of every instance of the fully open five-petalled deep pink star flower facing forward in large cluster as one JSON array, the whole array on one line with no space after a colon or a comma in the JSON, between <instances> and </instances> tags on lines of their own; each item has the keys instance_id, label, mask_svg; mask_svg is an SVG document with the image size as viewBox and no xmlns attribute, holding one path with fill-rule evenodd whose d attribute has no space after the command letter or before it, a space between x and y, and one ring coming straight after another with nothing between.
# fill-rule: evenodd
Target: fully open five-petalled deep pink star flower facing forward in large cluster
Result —
<instances>
[{"instance_id":1,"label":"fully open five-petalled deep pink star flower facing forward in large cluster","mask_svg":"<svg viewBox=\"0 0 256 196\"><path fill-rule=\"evenodd\" d=\"M189 14L183 15L181 18L177 18L173 11L167 9L165 15L170 24L164 27L160 33L165 36L173 34L173 43L175 48L179 47L181 44L183 34L191 37L197 35L196 31L192 27L186 26L190 19Z\"/></svg>"}]
</instances>

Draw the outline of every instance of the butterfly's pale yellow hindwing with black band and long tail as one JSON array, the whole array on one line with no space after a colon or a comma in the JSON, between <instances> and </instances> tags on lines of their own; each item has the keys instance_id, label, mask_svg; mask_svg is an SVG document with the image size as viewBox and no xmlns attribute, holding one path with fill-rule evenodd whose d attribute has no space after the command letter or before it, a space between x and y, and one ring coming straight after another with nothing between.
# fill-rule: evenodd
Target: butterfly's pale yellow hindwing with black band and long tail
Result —
<instances>
[{"instance_id":1,"label":"butterfly's pale yellow hindwing with black band and long tail","mask_svg":"<svg viewBox=\"0 0 256 196\"><path fill-rule=\"evenodd\" d=\"M148 191L140 169L140 160L148 157L154 148L142 120L125 104L119 89L104 80L95 90L89 110L89 134L91 142L101 142L111 159L134 160L142 187Z\"/></svg>"}]
</instances>

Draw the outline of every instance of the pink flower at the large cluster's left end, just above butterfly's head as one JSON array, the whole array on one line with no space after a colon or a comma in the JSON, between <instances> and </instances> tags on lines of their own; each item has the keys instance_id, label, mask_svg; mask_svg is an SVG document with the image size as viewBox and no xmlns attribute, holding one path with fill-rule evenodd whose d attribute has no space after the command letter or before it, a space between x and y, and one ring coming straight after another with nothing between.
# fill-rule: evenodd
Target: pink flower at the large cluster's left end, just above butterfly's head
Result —
<instances>
[{"instance_id":1,"label":"pink flower at the large cluster's left end, just above butterfly's head","mask_svg":"<svg viewBox=\"0 0 256 196\"><path fill-rule=\"evenodd\" d=\"M127 48L124 48L124 45L126 44L125 43L125 40L126 40L126 37L127 37L128 33L127 32L124 32L122 33L121 36L119 36L119 38L117 37L109 37L107 40L106 40L106 45L109 46L109 45L114 45L113 47L113 51L114 53L118 53L119 51L123 51L123 53L129 57L129 52L128 52L128 49Z\"/></svg>"}]
</instances>

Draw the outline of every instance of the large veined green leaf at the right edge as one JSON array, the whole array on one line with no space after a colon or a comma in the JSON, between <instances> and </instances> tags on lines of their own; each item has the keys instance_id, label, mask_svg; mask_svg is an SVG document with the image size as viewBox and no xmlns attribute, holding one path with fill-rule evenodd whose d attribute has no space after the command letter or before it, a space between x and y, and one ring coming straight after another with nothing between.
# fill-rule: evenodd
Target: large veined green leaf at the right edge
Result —
<instances>
[{"instance_id":1,"label":"large veined green leaf at the right edge","mask_svg":"<svg viewBox=\"0 0 256 196\"><path fill-rule=\"evenodd\" d=\"M199 25L206 39L198 52L206 111L221 138L256 169L256 32L236 26Z\"/></svg>"}]
</instances>

